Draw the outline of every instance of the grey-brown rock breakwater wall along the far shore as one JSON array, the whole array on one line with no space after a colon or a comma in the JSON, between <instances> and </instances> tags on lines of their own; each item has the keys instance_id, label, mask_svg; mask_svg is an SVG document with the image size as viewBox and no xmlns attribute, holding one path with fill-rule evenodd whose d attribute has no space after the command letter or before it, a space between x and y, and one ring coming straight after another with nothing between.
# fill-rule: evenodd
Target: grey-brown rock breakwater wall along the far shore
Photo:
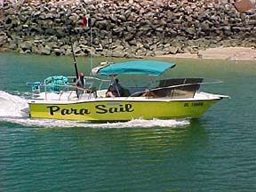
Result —
<instances>
[{"instance_id":1,"label":"grey-brown rock breakwater wall along the far shore","mask_svg":"<svg viewBox=\"0 0 256 192\"><path fill-rule=\"evenodd\" d=\"M256 47L256 11L237 12L228 0L12 2L1 5L2 50L66 55L71 53L70 39L76 55L114 57ZM86 15L91 16L92 31L83 28Z\"/></svg>"}]
</instances>

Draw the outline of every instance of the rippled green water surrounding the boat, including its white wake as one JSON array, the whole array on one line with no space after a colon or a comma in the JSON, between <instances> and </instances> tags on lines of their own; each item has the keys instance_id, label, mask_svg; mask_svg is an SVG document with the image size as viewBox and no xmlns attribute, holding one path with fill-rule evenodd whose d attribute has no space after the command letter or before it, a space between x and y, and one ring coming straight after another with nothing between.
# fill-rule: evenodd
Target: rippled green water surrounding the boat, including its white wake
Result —
<instances>
[{"instance_id":1,"label":"rippled green water surrounding the boat, including its white wake","mask_svg":"<svg viewBox=\"0 0 256 192\"><path fill-rule=\"evenodd\" d=\"M255 61L159 59L177 64L172 76L222 80L204 91L231 99L194 121L92 124L20 112L26 82L73 75L71 57L0 59L0 191L256 191Z\"/></svg>"}]
</instances>

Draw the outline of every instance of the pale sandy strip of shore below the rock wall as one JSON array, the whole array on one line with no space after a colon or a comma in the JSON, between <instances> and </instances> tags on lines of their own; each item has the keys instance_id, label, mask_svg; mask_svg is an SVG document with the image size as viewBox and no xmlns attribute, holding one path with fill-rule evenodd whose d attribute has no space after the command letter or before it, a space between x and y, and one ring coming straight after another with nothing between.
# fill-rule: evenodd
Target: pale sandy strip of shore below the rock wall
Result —
<instances>
[{"instance_id":1,"label":"pale sandy strip of shore below the rock wall","mask_svg":"<svg viewBox=\"0 0 256 192\"><path fill-rule=\"evenodd\" d=\"M211 60L256 60L256 49L245 47L218 47L199 51L197 54L178 53L164 55L164 57Z\"/></svg>"}]
</instances>

